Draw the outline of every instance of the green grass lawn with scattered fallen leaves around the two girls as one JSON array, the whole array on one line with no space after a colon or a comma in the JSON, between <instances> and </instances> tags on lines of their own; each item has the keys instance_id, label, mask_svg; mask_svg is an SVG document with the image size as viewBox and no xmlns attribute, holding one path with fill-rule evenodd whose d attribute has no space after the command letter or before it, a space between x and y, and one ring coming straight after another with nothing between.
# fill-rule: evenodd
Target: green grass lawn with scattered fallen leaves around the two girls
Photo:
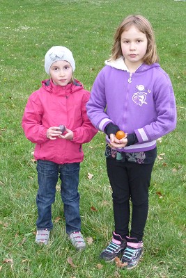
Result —
<instances>
[{"instance_id":1,"label":"green grass lawn with scattered fallen leaves around the two girls","mask_svg":"<svg viewBox=\"0 0 186 278\"><path fill-rule=\"evenodd\" d=\"M0 0L0 4L0 277L186 277L186 3ZM73 250L65 235L63 205L57 191L51 239L47 247L40 247L34 243L38 188L32 161L34 146L24 137L21 120L29 95L47 78L43 64L49 47L65 45L72 50L75 76L91 90L110 54L116 27L131 13L140 13L153 24L160 64L169 73L176 95L178 126L157 144L162 159L157 158L152 175L144 257L137 269L126 271L99 259L114 228L104 134L98 133L84 145L79 183L82 232L86 238L93 238L93 244L82 253ZM88 173L93 174L92 179L88 179ZM68 263L68 257L76 267Z\"/></svg>"}]
</instances>

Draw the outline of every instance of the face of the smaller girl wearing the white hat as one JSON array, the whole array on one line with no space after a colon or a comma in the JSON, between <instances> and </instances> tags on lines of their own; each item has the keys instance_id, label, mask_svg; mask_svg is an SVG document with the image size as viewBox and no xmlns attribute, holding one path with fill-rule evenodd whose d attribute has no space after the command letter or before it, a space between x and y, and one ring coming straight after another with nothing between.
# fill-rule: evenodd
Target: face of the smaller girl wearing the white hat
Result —
<instances>
[{"instance_id":1,"label":"face of the smaller girl wearing the white hat","mask_svg":"<svg viewBox=\"0 0 186 278\"><path fill-rule=\"evenodd\" d=\"M72 80L72 67L65 60L58 60L52 64L49 74L55 85L65 86Z\"/></svg>"}]
</instances>

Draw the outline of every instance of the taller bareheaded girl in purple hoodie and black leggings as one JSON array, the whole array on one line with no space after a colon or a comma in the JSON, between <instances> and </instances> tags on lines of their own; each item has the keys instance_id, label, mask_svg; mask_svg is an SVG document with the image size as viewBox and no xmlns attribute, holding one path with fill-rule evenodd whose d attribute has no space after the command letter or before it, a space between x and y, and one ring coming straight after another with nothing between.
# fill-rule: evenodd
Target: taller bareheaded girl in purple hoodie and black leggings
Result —
<instances>
[{"instance_id":1,"label":"taller bareheaded girl in purple hoodie and black leggings","mask_svg":"<svg viewBox=\"0 0 186 278\"><path fill-rule=\"evenodd\" d=\"M100 256L114 261L121 255L122 267L127 269L136 267L143 254L156 140L176 128L171 81L157 62L150 22L141 15L126 17L86 105L93 125L106 133L107 174L113 191L115 230ZM120 140L119 130L127 134Z\"/></svg>"}]
</instances>

